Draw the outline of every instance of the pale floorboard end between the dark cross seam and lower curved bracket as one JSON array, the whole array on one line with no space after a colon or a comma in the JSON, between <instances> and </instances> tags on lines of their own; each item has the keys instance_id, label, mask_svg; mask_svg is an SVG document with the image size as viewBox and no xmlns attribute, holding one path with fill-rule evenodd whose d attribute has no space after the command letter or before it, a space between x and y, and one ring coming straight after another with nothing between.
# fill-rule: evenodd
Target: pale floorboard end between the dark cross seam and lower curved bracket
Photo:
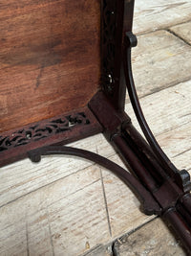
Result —
<instances>
[{"instance_id":1,"label":"pale floorboard end between the dark cross seam and lower curved bracket","mask_svg":"<svg viewBox=\"0 0 191 256\"><path fill-rule=\"evenodd\" d=\"M130 232L153 217L142 214L137 198L115 175L103 172L104 190L107 199L109 220L114 239Z\"/></svg>"}]
</instances>

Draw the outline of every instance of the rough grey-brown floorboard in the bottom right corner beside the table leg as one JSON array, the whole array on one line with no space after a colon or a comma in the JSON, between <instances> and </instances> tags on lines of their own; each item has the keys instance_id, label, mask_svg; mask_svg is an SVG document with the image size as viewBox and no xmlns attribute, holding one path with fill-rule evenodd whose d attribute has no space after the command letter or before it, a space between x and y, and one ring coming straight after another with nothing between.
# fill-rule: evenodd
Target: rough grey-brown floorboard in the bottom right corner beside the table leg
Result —
<instances>
[{"instance_id":1,"label":"rough grey-brown floorboard in the bottom right corner beside the table leg","mask_svg":"<svg viewBox=\"0 0 191 256\"><path fill-rule=\"evenodd\" d=\"M123 236L115 244L115 249L117 256L186 255L159 219L149 222L130 235Z\"/></svg>"}]
</instances>

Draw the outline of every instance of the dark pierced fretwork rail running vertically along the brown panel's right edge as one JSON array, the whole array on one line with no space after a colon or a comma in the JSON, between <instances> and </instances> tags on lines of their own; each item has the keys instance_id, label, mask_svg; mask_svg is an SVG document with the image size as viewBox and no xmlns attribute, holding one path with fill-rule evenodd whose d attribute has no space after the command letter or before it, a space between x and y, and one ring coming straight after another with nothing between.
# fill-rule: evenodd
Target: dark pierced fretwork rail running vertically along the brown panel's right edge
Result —
<instances>
[{"instance_id":1,"label":"dark pierced fretwork rail running vertically along the brown panel's right edge","mask_svg":"<svg viewBox=\"0 0 191 256\"><path fill-rule=\"evenodd\" d=\"M119 110L124 109L126 91L121 60L124 7L125 0L102 0L101 85Z\"/></svg>"}]
</instances>

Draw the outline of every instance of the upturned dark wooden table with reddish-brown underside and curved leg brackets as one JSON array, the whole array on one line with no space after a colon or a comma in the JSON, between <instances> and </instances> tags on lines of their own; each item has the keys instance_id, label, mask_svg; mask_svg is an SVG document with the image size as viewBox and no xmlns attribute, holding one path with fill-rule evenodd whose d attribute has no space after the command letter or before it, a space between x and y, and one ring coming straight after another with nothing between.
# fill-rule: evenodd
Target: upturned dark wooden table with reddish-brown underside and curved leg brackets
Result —
<instances>
[{"instance_id":1,"label":"upturned dark wooden table with reddish-brown underside and curved leg brackets","mask_svg":"<svg viewBox=\"0 0 191 256\"><path fill-rule=\"evenodd\" d=\"M8 12L9 11L9 12ZM122 179L146 215L191 251L190 176L160 149L138 102L134 0L6 1L1 9L0 165L41 155L86 158ZM124 111L126 87L145 139ZM103 132L131 169L69 142Z\"/></svg>"}]
</instances>

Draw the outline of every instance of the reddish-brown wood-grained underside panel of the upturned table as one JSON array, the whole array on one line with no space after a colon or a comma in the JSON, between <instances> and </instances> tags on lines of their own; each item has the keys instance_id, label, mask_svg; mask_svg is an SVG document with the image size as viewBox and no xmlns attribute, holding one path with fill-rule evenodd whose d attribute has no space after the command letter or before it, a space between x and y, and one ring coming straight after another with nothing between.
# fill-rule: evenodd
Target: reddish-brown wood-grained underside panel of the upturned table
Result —
<instances>
[{"instance_id":1,"label":"reddish-brown wood-grained underside panel of the upturned table","mask_svg":"<svg viewBox=\"0 0 191 256\"><path fill-rule=\"evenodd\" d=\"M0 3L0 131L87 105L99 83L99 1Z\"/></svg>"}]
</instances>

